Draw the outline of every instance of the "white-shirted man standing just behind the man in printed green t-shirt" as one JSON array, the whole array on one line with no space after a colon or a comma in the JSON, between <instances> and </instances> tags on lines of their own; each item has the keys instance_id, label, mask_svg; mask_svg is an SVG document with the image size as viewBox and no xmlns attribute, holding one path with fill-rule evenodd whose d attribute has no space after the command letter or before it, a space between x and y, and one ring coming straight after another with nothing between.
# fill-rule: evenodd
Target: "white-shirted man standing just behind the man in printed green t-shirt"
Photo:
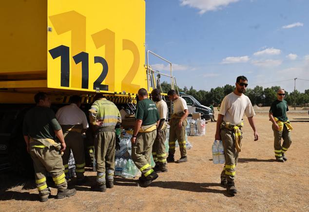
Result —
<instances>
[{"instance_id":1,"label":"white-shirted man standing just behind the man in printed green t-shirt","mask_svg":"<svg viewBox=\"0 0 309 212\"><path fill-rule=\"evenodd\" d=\"M154 89L151 92L152 99L155 102L156 108L160 116L159 125L156 128L156 137L153 144L153 157L155 161L155 172L167 172L167 161L165 152L165 137L167 133L167 114L168 107L166 102L161 97L161 92L159 89Z\"/></svg>"}]
</instances>

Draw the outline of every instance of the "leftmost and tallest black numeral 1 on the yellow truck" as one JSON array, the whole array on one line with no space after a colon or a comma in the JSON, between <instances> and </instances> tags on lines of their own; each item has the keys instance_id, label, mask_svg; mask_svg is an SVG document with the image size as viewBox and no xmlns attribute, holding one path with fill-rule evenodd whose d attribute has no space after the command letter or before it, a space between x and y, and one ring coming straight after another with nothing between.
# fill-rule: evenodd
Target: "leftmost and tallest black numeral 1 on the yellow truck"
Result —
<instances>
[{"instance_id":1,"label":"leftmost and tallest black numeral 1 on the yellow truck","mask_svg":"<svg viewBox=\"0 0 309 212\"><path fill-rule=\"evenodd\" d=\"M70 84L70 49L61 45L49 50L49 54L53 59L61 57L61 77L60 86L69 87Z\"/></svg>"}]
</instances>

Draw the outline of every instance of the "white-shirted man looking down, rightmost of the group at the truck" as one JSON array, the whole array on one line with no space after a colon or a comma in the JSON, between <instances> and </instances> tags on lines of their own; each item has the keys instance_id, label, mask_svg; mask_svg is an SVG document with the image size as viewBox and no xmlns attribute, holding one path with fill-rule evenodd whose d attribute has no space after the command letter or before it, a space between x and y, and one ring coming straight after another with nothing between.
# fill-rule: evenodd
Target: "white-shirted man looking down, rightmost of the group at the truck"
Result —
<instances>
[{"instance_id":1,"label":"white-shirted man looking down, rightmost of the group at the truck","mask_svg":"<svg viewBox=\"0 0 309 212\"><path fill-rule=\"evenodd\" d=\"M171 101L174 101L174 113L170 120L170 136L169 136L169 156L167 162L174 162L175 142L177 140L180 150L180 159L176 163L187 162L186 151L186 126L187 116L189 114L186 100L176 94L174 90L170 90L167 95Z\"/></svg>"}]
</instances>

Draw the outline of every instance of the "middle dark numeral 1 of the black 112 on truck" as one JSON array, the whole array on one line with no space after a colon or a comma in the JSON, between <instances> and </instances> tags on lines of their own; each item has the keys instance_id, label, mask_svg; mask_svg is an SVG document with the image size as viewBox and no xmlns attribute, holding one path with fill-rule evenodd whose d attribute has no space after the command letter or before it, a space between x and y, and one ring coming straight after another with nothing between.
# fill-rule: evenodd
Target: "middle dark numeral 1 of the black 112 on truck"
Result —
<instances>
[{"instance_id":1,"label":"middle dark numeral 1 of the black 112 on truck","mask_svg":"<svg viewBox=\"0 0 309 212\"><path fill-rule=\"evenodd\" d=\"M76 64L81 62L81 88L88 89L89 81L89 57L88 53L81 52L73 57Z\"/></svg>"}]
</instances>

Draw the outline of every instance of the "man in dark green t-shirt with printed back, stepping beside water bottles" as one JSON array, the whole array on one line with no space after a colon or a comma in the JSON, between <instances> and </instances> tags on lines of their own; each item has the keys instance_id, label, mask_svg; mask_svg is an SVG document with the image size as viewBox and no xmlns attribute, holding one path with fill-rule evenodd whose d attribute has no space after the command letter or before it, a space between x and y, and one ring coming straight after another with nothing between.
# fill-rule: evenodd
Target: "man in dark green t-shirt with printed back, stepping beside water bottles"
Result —
<instances>
[{"instance_id":1,"label":"man in dark green t-shirt with printed back, stepping beside water bottles","mask_svg":"<svg viewBox=\"0 0 309 212\"><path fill-rule=\"evenodd\" d=\"M160 118L155 102L148 98L146 89L138 90L138 99L135 127L131 139L132 159L136 167L142 172L138 180L139 185L147 187L158 177L150 164L152 146L156 137L156 125Z\"/></svg>"}]
</instances>

